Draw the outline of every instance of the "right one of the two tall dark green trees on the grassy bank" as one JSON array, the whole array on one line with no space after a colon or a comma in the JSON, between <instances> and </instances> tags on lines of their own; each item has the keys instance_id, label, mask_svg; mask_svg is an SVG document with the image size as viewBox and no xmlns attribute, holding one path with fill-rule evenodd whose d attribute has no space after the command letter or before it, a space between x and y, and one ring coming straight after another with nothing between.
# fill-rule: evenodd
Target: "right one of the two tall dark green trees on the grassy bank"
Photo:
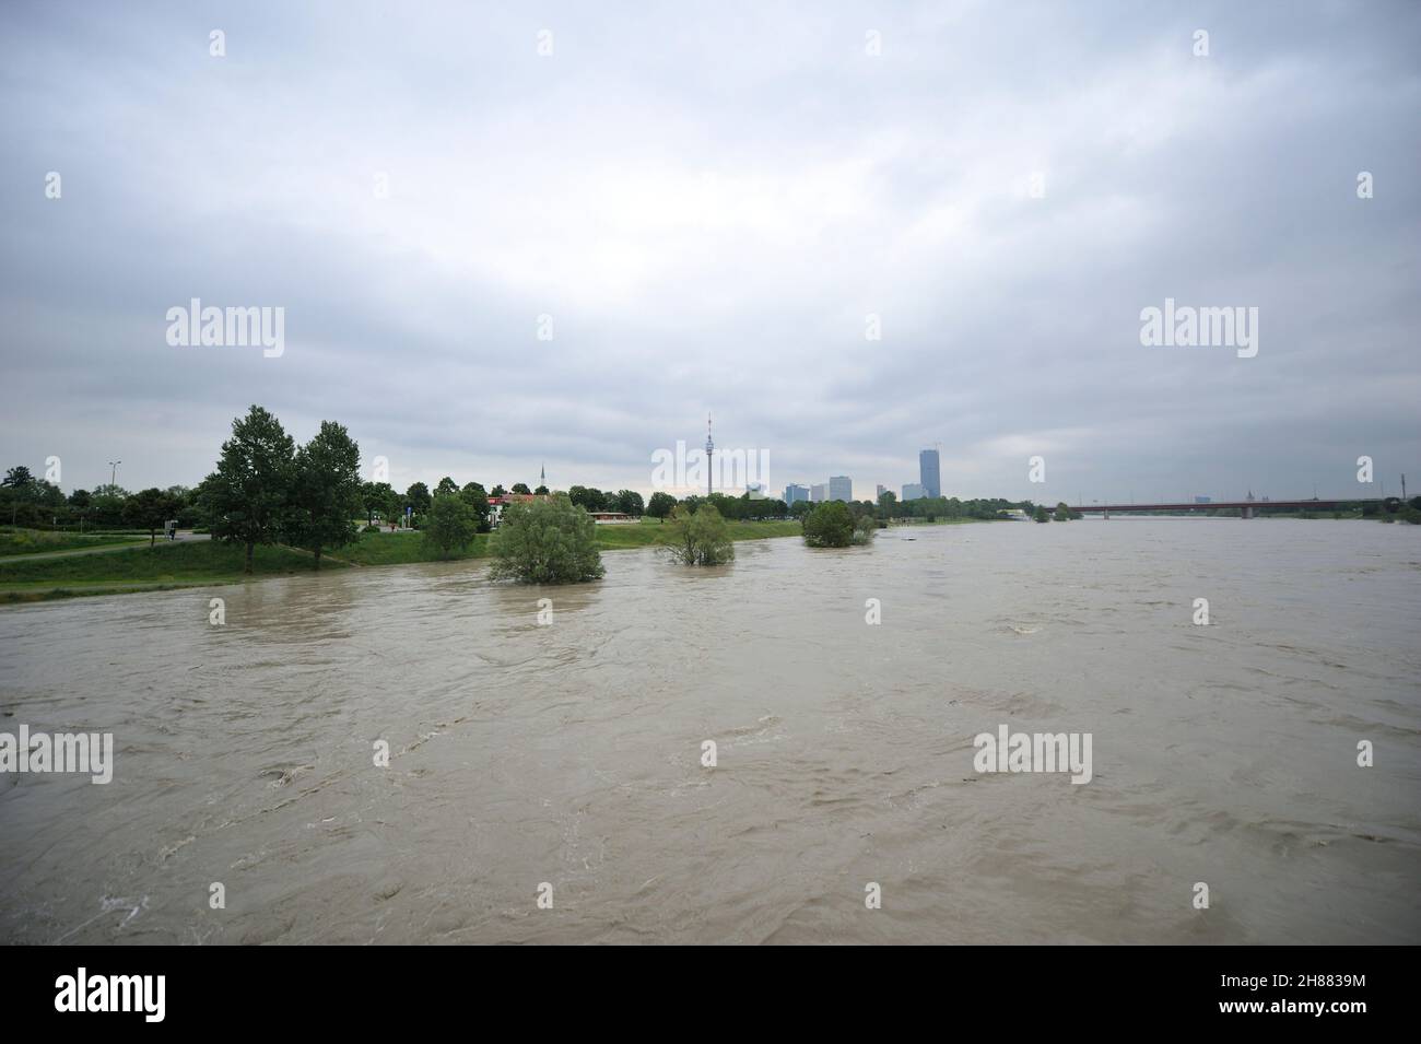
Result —
<instances>
[{"instance_id":1,"label":"right one of the two tall dark green trees on the grassy bank","mask_svg":"<svg viewBox=\"0 0 1421 1044\"><path fill-rule=\"evenodd\" d=\"M361 507L360 446L344 425L323 420L321 430L296 452L291 540L315 555L321 568L324 548L355 540Z\"/></svg>"}]
</instances>

